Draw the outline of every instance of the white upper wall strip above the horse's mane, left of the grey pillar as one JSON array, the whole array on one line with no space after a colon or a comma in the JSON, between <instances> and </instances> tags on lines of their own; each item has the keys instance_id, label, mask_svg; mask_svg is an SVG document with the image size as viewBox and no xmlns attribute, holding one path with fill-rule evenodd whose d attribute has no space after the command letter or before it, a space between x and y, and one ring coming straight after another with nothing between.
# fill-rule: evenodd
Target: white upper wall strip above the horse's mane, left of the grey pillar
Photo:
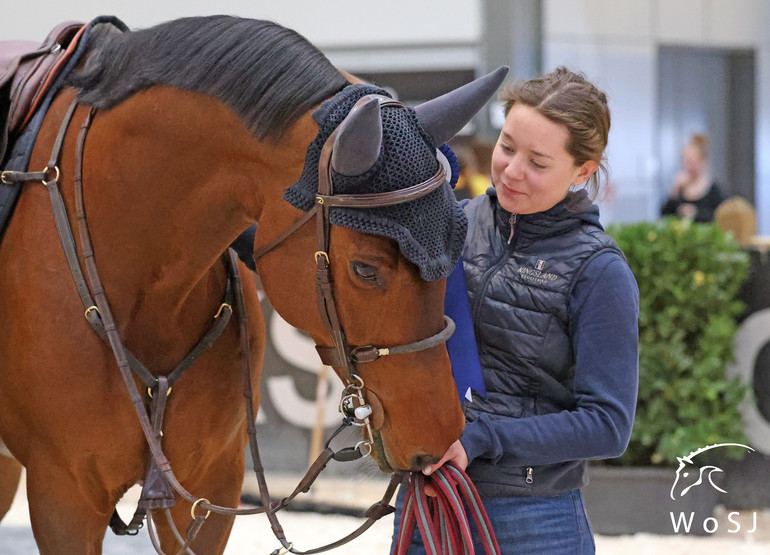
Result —
<instances>
[{"instance_id":1,"label":"white upper wall strip above the horse's mane, left of the grey pillar","mask_svg":"<svg viewBox=\"0 0 770 555\"><path fill-rule=\"evenodd\" d=\"M325 47L466 43L480 34L475 0L0 0L0 38L42 40L61 21L97 15L137 28L219 13L270 19Z\"/></svg>"}]
</instances>

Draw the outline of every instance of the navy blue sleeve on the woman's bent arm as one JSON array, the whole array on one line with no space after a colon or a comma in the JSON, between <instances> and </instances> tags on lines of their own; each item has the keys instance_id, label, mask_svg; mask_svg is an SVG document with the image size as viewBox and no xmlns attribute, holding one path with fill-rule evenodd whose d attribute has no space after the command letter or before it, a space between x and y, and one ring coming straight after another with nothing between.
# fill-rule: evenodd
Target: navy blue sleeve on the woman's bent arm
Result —
<instances>
[{"instance_id":1,"label":"navy blue sleeve on the woman's bent arm","mask_svg":"<svg viewBox=\"0 0 770 555\"><path fill-rule=\"evenodd\" d=\"M574 410L528 418L479 416L460 441L468 459L540 465L620 456L636 409L639 290L614 252L587 263L570 297Z\"/></svg>"}]
</instances>

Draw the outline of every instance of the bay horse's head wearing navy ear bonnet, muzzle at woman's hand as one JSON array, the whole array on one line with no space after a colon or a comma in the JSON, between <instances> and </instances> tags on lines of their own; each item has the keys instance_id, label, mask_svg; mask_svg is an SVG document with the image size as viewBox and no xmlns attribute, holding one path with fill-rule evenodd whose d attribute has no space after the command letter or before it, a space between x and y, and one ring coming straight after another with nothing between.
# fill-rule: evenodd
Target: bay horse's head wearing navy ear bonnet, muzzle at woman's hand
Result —
<instances>
[{"instance_id":1,"label":"bay horse's head wearing navy ear bonnet, muzzle at woman's hand","mask_svg":"<svg viewBox=\"0 0 770 555\"><path fill-rule=\"evenodd\" d=\"M444 175L436 145L467 123L505 73L498 70L414 110L353 85L313 114L320 127L308 150L309 163L284 198L308 215L318 211L316 219L328 210L328 240L323 224L299 224L290 240L272 248L270 240L286 224L272 229L268 224L261 237L260 221L255 258L273 306L289 323L307 330L319 352L335 351L340 340L343 350L358 352L360 346L414 344L444 330L446 277L467 227L447 180L439 177L428 194L389 206L357 205L355 199L397 195ZM319 175L333 181L325 197L317 193ZM324 199L335 202L337 194L354 204L319 206ZM292 219L307 221L296 213ZM319 238L328 249L319 246ZM342 334L329 328L328 307L323 306L328 300L318 309L318 257L329 266L334 318ZM290 294L287 276L294 283ZM350 367L340 357L333 360L327 363L343 381L363 384L372 410L365 435L371 436L366 439L373 442L382 469L422 469L459 437L464 418L443 344L374 361L353 360Z\"/></svg>"}]
</instances>

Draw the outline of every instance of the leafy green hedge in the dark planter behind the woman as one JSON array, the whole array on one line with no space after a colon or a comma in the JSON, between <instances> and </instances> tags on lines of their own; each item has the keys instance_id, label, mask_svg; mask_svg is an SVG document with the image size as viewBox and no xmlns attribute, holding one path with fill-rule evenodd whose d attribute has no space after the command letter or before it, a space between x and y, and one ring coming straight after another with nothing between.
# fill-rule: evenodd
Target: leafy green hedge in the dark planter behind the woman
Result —
<instances>
[{"instance_id":1,"label":"leafy green hedge in the dark planter behind the woman","mask_svg":"<svg viewBox=\"0 0 770 555\"><path fill-rule=\"evenodd\" d=\"M748 256L713 224L668 218L608 232L628 257L640 296L639 402L631 443L614 462L675 465L706 445L745 443L738 404L746 388L728 380L725 368Z\"/></svg>"}]
</instances>

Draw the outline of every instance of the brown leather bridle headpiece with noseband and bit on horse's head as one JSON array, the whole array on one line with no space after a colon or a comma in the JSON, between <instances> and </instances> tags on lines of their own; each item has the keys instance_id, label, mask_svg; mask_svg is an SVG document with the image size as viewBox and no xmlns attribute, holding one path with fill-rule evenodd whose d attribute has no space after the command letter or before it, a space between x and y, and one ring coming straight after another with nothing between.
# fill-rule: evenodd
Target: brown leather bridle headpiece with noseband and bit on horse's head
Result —
<instances>
[{"instance_id":1,"label":"brown leather bridle headpiece with noseband and bit on horse's head","mask_svg":"<svg viewBox=\"0 0 770 555\"><path fill-rule=\"evenodd\" d=\"M346 119L361 109L364 104L370 100L376 99L380 107L400 107L404 105L400 102L388 98L387 96L369 94L361 97L351 108ZM371 408L364 401L361 390L364 387L363 380L355 373L355 365L366 362L373 362L382 356L414 353L430 349L442 343L452 335L455 324L449 316L444 316L444 329L426 339L414 341L404 345L394 347L376 347L374 345L351 346L345 337L337 313L337 306L332 291L332 282L330 275L329 262L329 232L331 222L329 221L330 208L380 208L383 206L393 206L411 200L418 199L438 189L447 179L446 170L443 164L439 164L436 173L428 180L399 189L397 191L387 191L383 193L361 193L361 194L335 194L334 183L332 180L331 158L334 149L335 139L342 124L338 125L331 133L323 148L321 149L321 159L318 163L318 193L316 202L310 211L301 219L295 222L291 227L273 239L267 245L257 249L254 252L254 260L258 260L275 247L283 243L288 237L304 226L314 216L316 217L316 239L318 250L316 251L316 296L318 299L318 310L321 314L321 320L324 323L332 339L332 346L316 345L321 357L321 362L328 366L341 368L344 372L344 379L347 382L345 393L343 393L342 409L345 413L353 413L358 420L363 421L367 426L369 437L373 438L372 430L369 425L368 414L371 414ZM358 406L356 406L358 404ZM368 412L368 414L366 414ZM365 415L366 417L361 418ZM371 441L364 442L369 447L371 453ZM368 453L367 453L368 454Z\"/></svg>"}]
</instances>

